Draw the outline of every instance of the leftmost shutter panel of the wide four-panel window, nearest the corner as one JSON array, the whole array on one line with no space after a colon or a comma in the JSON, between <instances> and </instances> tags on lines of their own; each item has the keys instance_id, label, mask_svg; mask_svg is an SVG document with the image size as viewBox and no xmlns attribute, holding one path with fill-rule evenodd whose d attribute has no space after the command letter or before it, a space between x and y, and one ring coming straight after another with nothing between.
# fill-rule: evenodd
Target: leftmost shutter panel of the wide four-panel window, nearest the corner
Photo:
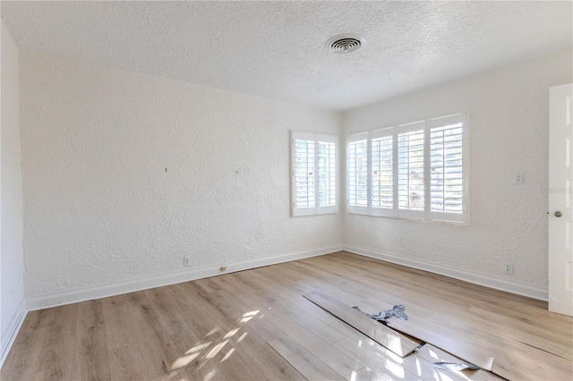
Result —
<instances>
[{"instance_id":1,"label":"leftmost shutter panel of the wide four-panel window, nearest the corner","mask_svg":"<svg viewBox=\"0 0 573 381\"><path fill-rule=\"evenodd\" d=\"M369 214L369 132L350 135L347 140L346 187L348 211Z\"/></svg>"}]
</instances>

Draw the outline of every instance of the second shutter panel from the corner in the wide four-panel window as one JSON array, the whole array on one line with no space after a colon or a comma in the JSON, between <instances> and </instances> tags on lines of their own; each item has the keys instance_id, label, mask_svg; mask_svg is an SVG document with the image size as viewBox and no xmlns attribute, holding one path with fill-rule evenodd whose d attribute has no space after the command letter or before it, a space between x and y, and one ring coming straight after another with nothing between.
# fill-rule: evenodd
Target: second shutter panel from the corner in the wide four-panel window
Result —
<instances>
[{"instance_id":1,"label":"second shutter panel from the corner in the wide four-panel window","mask_svg":"<svg viewBox=\"0 0 573 381\"><path fill-rule=\"evenodd\" d=\"M372 131L371 143L371 202L372 215L395 216L396 189L394 163L396 162L396 129Z\"/></svg>"}]
</instances>

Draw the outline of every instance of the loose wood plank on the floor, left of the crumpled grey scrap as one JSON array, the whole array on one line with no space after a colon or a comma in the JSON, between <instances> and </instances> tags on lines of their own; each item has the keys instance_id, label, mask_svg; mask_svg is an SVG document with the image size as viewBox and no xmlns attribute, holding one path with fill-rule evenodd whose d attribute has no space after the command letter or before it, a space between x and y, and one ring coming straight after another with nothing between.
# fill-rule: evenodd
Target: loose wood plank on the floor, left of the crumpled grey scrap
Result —
<instances>
[{"instance_id":1,"label":"loose wood plank on the floor, left of the crumpled grey scrap","mask_svg":"<svg viewBox=\"0 0 573 381\"><path fill-rule=\"evenodd\" d=\"M405 335L390 329L387 326L368 318L362 312L359 312L346 304L331 298L327 295L322 295L318 292L311 292L304 295L304 298L312 301L322 309L326 309L332 315L340 320L343 320L349 326L353 326L356 330L370 337L376 343L388 348L390 351L398 354L400 357L405 357L412 353L418 346L417 343L408 339Z\"/></svg>"}]
</instances>

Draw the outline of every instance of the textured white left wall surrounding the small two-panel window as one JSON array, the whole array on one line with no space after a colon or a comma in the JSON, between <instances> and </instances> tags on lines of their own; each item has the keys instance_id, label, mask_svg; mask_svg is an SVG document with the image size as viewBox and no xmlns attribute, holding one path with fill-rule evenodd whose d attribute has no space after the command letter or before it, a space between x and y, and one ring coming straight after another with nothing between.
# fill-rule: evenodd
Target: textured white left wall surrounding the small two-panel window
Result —
<instances>
[{"instance_id":1,"label":"textured white left wall surrounding the small two-panel window","mask_svg":"<svg viewBox=\"0 0 573 381\"><path fill-rule=\"evenodd\" d=\"M341 214L289 216L289 130L336 133L338 113L20 62L27 298L342 244Z\"/></svg>"}]
</instances>

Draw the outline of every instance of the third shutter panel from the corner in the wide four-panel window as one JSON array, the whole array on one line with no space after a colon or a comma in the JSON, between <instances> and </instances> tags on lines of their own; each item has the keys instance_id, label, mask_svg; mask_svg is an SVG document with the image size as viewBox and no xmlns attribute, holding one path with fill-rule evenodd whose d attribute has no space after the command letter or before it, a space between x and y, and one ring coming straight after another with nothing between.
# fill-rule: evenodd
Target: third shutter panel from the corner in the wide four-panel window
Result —
<instances>
[{"instance_id":1,"label":"third shutter panel from the corner in the wide four-panel window","mask_svg":"<svg viewBox=\"0 0 573 381\"><path fill-rule=\"evenodd\" d=\"M423 218L425 122L398 126L398 216Z\"/></svg>"}]
</instances>

